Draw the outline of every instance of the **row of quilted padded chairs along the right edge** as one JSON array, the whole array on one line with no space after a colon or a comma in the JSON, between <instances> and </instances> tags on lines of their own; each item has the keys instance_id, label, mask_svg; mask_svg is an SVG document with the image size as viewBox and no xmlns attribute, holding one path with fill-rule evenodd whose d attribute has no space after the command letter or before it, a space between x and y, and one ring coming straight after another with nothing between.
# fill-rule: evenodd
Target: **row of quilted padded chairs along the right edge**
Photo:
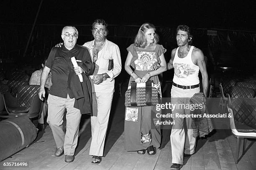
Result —
<instances>
[{"instance_id":1,"label":"row of quilted padded chairs along the right edge","mask_svg":"<svg viewBox=\"0 0 256 170\"><path fill-rule=\"evenodd\" d=\"M256 138L256 80L220 83L220 93L219 106L224 106L224 111L227 107L231 114L230 128L237 138L235 163L238 163L240 141L243 141L244 155L246 138Z\"/></svg>"}]
</instances>

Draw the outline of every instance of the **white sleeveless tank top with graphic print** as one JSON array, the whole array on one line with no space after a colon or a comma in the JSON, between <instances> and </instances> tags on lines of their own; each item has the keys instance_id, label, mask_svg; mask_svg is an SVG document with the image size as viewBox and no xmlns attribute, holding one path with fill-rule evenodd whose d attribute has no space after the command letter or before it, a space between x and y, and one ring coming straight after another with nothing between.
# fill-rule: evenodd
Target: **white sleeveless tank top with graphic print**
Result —
<instances>
[{"instance_id":1,"label":"white sleeveless tank top with graphic print","mask_svg":"<svg viewBox=\"0 0 256 170\"><path fill-rule=\"evenodd\" d=\"M199 84L199 67L192 62L191 54L194 46L190 47L190 50L186 57L178 57L177 48L173 60L174 77L173 82L178 85L197 85Z\"/></svg>"}]
</instances>

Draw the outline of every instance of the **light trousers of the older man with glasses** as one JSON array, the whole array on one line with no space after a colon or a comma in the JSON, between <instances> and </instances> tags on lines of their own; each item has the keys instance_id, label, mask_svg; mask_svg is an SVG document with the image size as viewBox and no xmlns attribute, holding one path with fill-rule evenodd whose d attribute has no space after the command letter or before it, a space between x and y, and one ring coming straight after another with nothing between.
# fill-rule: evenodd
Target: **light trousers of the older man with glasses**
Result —
<instances>
[{"instance_id":1,"label":"light trousers of the older man with glasses","mask_svg":"<svg viewBox=\"0 0 256 170\"><path fill-rule=\"evenodd\" d=\"M79 123L81 119L80 110L74 108L74 98L57 97L54 95L48 96L48 117L49 123L57 148L64 146L65 155L74 155L77 147ZM67 109L67 129L66 135L62 129L64 111Z\"/></svg>"}]
</instances>

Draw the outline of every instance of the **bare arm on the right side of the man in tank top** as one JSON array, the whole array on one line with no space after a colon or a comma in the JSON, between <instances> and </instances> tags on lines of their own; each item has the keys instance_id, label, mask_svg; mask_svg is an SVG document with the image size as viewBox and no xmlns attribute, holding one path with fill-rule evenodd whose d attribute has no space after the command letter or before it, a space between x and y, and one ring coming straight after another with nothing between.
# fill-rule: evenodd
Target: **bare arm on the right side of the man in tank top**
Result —
<instances>
[{"instance_id":1,"label":"bare arm on the right side of the man in tank top","mask_svg":"<svg viewBox=\"0 0 256 170\"><path fill-rule=\"evenodd\" d=\"M205 94L205 97L207 97L207 90L208 90L209 83L208 83L208 73L207 73L207 69L206 69L204 54L202 53L201 50L198 49L195 52L195 56L197 57L197 65L202 74L203 92Z\"/></svg>"}]
</instances>

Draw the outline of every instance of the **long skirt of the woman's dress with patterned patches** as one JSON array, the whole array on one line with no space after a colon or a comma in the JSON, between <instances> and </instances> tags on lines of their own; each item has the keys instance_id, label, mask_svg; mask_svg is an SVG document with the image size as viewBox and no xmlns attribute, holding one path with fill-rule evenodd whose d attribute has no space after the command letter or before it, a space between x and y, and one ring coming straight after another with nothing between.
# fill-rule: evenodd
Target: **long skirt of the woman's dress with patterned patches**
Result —
<instances>
[{"instance_id":1,"label":"long skirt of the woman's dress with patterned patches","mask_svg":"<svg viewBox=\"0 0 256 170\"><path fill-rule=\"evenodd\" d=\"M148 71L135 70L135 73L142 78ZM149 80L153 80L154 84L159 82L157 75L150 77ZM130 78L128 85L131 81L134 81L133 77ZM154 123L159 120L155 110L156 106L125 107L125 150L142 150L151 145L160 147L161 131L160 125Z\"/></svg>"}]
</instances>

